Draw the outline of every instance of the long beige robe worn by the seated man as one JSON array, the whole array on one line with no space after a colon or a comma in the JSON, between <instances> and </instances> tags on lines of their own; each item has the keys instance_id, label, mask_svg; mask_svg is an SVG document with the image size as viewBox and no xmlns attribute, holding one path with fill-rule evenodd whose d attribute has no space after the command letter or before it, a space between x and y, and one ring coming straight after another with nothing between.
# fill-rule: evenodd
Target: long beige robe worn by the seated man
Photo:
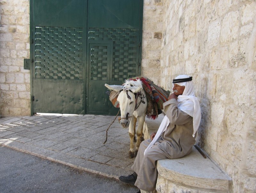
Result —
<instances>
[{"instance_id":1,"label":"long beige robe worn by the seated man","mask_svg":"<svg viewBox=\"0 0 256 193\"><path fill-rule=\"evenodd\" d=\"M131 167L138 174L135 186L146 191L153 191L156 187L157 160L181 158L188 155L195 144L196 136L192 136L193 117L180 111L175 99L168 100L163 105L170 124L145 155L144 151L151 140L145 140L140 144L137 157Z\"/></svg>"}]
</instances>

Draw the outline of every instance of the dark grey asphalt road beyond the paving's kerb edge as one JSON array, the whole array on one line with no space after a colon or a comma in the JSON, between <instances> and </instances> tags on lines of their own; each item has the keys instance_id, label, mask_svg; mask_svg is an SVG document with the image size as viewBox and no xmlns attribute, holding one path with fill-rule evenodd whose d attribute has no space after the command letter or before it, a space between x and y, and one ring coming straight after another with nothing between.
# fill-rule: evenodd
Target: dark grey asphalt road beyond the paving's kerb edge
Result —
<instances>
[{"instance_id":1,"label":"dark grey asphalt road beyond the paving's kerb edge","mask_svg":"<svg viewBox=\"0 0 256 193\"><path fill-rule=\"evenodd\" d=\"M116 179L80 171L0 146L0 192L124 192L139 189Z\"/></svg>"}]
</instances>

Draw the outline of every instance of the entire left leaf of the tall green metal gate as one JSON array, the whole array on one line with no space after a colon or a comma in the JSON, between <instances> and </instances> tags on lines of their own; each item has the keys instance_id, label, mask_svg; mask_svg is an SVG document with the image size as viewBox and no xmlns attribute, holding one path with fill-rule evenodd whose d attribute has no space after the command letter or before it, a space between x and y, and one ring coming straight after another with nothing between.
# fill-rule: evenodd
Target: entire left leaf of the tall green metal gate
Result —
<instances>
[{"instance_id":1,"label":"entire left leaf of the tall green metal gate","mask_svg":"<svg viewBox=\"0 0 256 193\"><path fill-rule=\"evenodd\" d=\"M31 0L33 112L85 114L86 2Z\"/></svg>"}]
</instances>

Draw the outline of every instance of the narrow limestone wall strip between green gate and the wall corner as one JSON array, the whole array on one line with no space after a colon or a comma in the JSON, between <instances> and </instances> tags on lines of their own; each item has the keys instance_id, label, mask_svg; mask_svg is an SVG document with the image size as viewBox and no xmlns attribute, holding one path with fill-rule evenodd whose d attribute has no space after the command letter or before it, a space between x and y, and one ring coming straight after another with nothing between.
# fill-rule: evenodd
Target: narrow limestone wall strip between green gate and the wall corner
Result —
<instances>
[{"instance_id":1,"label":"narrow limestone wall strip between green gate and the wall corner","mask_svg":"<svg viewBox=\"0 0 256 193\"><path fill-rule=\"evenodd\" d=\"M163 2L144 0L141 75L160 84L161 45L163 39Z\"/></svg>"}]
</instances>

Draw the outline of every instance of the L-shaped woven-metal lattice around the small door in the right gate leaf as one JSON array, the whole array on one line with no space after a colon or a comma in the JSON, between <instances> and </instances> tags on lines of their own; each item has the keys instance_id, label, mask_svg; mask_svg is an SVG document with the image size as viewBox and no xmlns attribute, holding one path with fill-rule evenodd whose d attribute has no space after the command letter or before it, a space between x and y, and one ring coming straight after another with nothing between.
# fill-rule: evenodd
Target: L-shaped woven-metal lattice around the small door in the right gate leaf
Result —
<instances>
[{"instance_id":1,"label":"L-shaped woven-metal lattice around the small door in the right gate leaf","mask_svg":"<svg viewBox=\"0 0 256 193\"><path fill-rule=\"evenodd\" d=\"M136 29L89 29L89 40L113 41L112 80L123 81L136 76L139 55L138 32Z\"/></svg>"}]
</instances>

